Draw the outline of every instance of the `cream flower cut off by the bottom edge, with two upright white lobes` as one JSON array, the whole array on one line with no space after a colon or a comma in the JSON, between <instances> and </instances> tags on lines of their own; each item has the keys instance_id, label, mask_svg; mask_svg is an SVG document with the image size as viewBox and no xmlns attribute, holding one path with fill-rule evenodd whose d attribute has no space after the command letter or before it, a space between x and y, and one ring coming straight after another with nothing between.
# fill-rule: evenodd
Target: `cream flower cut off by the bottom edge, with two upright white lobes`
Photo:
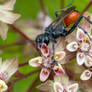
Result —
<instances>
[{"instance_id":1,"label":"cream flower cut off by the bottom edge, with two upright white lobes","mask_svg":"<svg viewBox=\"0 0 92 92\"><path fill-rule=\"evenodd\" d=\"M66 83L67 78L65 76L64 78L60 76L55 76L54 81L48 80L45 83L39 85L37 88L41 91L46 92L77 92L78 83L67 84Z\"/></svg>"}]
</instances>

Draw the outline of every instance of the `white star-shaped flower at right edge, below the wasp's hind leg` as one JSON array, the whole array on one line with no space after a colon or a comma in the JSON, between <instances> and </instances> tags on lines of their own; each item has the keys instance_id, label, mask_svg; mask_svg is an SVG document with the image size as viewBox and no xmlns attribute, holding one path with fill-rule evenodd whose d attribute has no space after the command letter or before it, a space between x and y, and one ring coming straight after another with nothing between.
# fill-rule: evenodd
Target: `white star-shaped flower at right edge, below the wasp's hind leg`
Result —
<instances>
[{"instance_id":1,"label":"white star-shaped flower at right edge, below the wasp's hind leg","mask_svg":"<svg viewBox=\"0 0 92 92\"><path fill-rule=\"evenodd\" d=\"M92 42L82 29L78 28L76 41L68 44L66 48L70 52L77 51L76 60L78 65L85 64L86 67L92 66Z\"/></svg>"}]
</instances>

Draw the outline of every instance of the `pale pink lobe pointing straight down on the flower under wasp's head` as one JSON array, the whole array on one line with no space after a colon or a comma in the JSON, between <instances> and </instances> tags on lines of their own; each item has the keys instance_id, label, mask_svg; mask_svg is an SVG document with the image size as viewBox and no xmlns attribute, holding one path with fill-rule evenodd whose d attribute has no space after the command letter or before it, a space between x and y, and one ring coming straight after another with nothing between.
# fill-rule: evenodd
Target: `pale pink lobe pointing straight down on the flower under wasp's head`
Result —
<instances>
[{"instance_id":1,"label":"pale pink lobe pointing straight down on the flower under wasp's head","mask_svg":"<svg viewBox=\"0 0 92 92\"><path fill-rule=\"evenodd\" d=\"M50 75L50 72L51 72L50 69L42 68L41 73L40 73L40 80L43 82L46 81Z\"/></svg>"}]
</instances>

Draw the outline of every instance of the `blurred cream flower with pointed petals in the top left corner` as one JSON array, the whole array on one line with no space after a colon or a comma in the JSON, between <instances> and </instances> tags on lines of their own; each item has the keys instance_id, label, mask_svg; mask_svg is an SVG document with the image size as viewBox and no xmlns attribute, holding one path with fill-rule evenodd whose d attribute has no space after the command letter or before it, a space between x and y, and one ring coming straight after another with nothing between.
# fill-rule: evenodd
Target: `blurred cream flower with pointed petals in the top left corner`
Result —
<instances>
[{"instance_id":1,"label":"blurred cream flower with pointed petals in the top left corner","mask_svg":"<svg viewBox=\"0 0 92 92\"><path fill-rule=\"evenodd\" d=\"M12 13L16 0L8 0L4 5L0 5L0 36L6 40L8 25L13 24L19 17L19 14Z\"/></svg>"}]
</instances>

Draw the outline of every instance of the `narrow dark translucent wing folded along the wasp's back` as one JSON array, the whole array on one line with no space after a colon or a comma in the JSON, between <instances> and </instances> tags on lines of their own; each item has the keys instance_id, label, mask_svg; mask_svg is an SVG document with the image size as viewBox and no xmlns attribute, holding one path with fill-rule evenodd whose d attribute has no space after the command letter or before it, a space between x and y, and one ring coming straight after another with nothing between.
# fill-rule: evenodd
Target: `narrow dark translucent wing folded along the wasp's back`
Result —
<instances>
[{"instance_id":1,"label":"narrow dark translucent wing folded along the wasp's back","mask_svg":"<svg viewBox=\"0 0 92 92\"><path fill-rule=\"evenodd\" d=\"M68 8L67 10L63 11L62 14L56 18L49 26L53 26L53 28L57 27L65 17L67 17L73 10L75 10L75 6Z\"/></svg>"}]
</instances>

